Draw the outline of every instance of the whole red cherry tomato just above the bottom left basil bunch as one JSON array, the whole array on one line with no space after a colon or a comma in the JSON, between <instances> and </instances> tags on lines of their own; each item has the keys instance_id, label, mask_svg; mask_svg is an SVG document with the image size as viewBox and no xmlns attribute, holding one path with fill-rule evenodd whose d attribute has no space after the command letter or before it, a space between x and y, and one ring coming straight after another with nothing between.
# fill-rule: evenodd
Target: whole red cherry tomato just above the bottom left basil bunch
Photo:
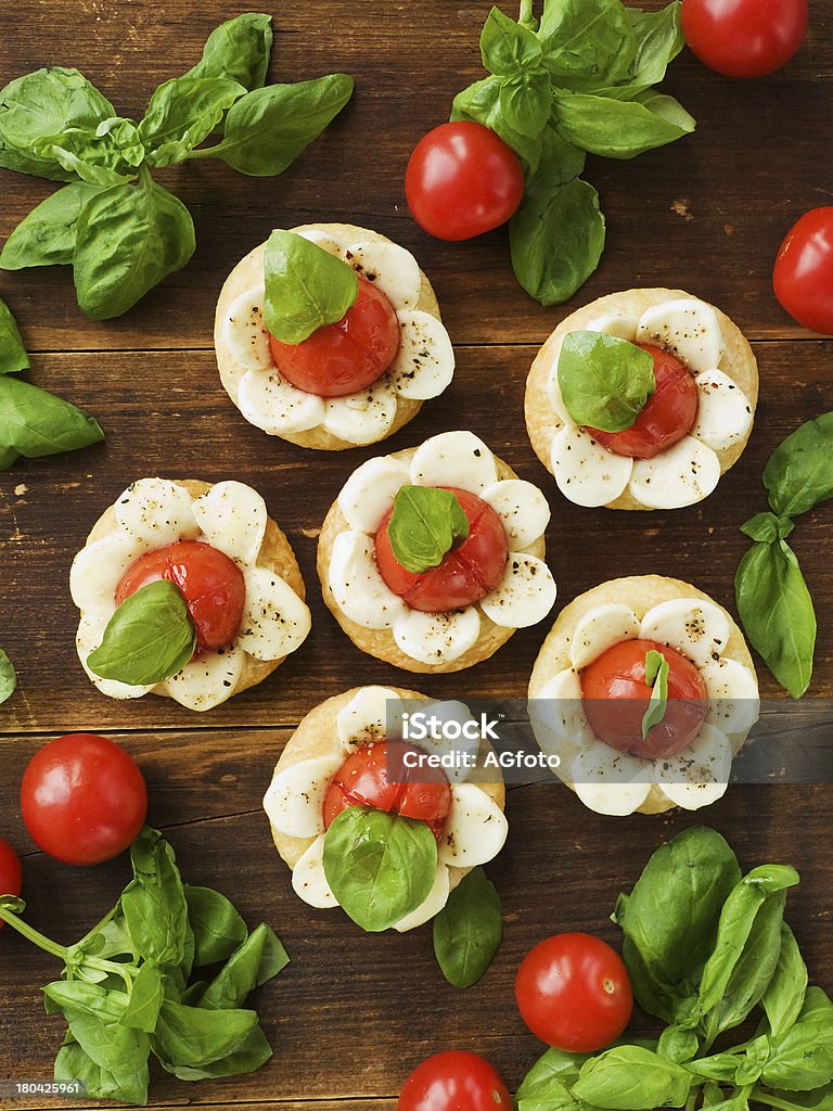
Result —
<instances>
[{"instance_id":1,"label":"whole red cherry tomato just above the bottom left basil bunch","mask_svg":"<svg viewBox=\"0 0 833 1111\"><path fill-rule=\"evenodd\" d=\"M66 864L112 860L136 839L148 790L136 762L113 741L68 733L36 752L20 807L40 848Z\"/></svg>"}]
</instances>

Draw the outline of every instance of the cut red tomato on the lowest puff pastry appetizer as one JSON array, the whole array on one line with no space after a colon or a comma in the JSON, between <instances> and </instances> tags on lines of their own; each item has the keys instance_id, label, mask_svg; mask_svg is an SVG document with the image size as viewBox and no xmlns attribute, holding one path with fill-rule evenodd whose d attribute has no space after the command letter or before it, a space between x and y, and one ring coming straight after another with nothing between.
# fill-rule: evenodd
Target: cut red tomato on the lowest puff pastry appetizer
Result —
<instances>
[{"instance_id":1,"label":"cut red tomato on the lowest puff pastry appetizer","mask_svg":"<svg viewBox=\"0 0 833 1111\"><path fill-rule=\"evenodd\" d=\"M404 765L404 753L419 751L403 741L379 741L351 752L324 797L324 825L329 829L348 807L373 807L425 822L439 840L451 810L451 787L440 768Z\"/></svg>"}]
</instances>

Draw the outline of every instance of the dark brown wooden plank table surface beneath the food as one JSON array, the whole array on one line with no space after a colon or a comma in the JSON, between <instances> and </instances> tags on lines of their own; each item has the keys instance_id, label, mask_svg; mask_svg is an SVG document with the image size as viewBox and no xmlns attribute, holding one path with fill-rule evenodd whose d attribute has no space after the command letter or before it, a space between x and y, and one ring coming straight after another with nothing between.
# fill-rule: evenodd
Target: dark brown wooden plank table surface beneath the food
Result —
<instances>
[{"instance_id":1,"label":"dark brown wooden plank table surface beneath the food","mask_svg":"<svg viewBox=\"0 0 833 1111\"><path fill-rule=\"evenodd\" d=\"M806 42L771 78L735 83L688 52L674 63L666 89L694 114L696 132L632 162L589 160L586 177L608 217L608 248L574 301L549 310L515 284L503 232L441 243L419 230L404 203L409 151L448 117L454 92L481 76L478 37L489 8L489 0L279 6L271 79L342 70L354 74L355 97L282 177L244 178L204 161L162 172L194 216L198 248L187 269L107 323L81 314L67 269L0 272L0 296L33 354L34 381L94 413L108 434L106 444L20 461L0 476L0 643L20 677L19 692L0 710L0 832L24 855L30 920L74 940L124 882L124 860L72 870L46 858L20 819L28 758L54 734L99 730L139 761L150 820L168 831L191 882L228 893L250 922L270 922L292 957L258 998L272 1061L252 1075L190 1087L160 1072L151 1085L158 1104L390 1109L410 1069L444 1048L485 1054L514 1088L542 1049L513 1003L523 953L558 930L615 940L608 915L618 892L662 840L697 821L720 829L746 865L799 865L803 883L790 895L789 919L811 975L833 988L830 787L734 787L700 815L630 819L592 814L560 787L512 790L510 840L489 869L504 900L505 941L485 978L465 992L443 981L430 930L365 935L339 913L311 910L292 893L271 848L260 801L301 717L350 685L408 681L350 644L324 608L314 573L327 508L352 469L379 448L311 453L269 439L243 422L219 382L211 344L219 288L272 228L347 220L416 254L436 289L459 369L448 393L389 446L469 428L523 478L541 483L553 509L548 559L562 603L615 575L658 572L688 578L732 609L745 544L737 526L764 508L764 461L789 431L833 408L833 343L791 321L770 283L787 228L833 196L833 0L811 0ZM243 10L218 0L20 0L13 9L7 0L0 83L46 63L77 66L121 113L140 116L159 82L193 64L211 28ZM51 187L7 172L0 178L4 239ZM760 362L762 397L750 446L717 492L692 509L649 514L572 506L525 437L523 386L538 346L571 309L631 286L682 287L715 302L753 341ZM149 474L251 483L288 532L310 594L313 632L303 648L270 680L204 717L155 698L110 701L88 682L74 652L72 557L103 508ZM794 533L820 617L810 693L827 698L830 513L810 514ZM438 695L522 697L548 627L519 632L462 675L415 684ZM761 687L766 695L781 693L763 668ZM56 972L50 958L3 931L0 1078L51 1077L62 1021L44 1018L40 988Z\"/></svg>"}]
</instances>

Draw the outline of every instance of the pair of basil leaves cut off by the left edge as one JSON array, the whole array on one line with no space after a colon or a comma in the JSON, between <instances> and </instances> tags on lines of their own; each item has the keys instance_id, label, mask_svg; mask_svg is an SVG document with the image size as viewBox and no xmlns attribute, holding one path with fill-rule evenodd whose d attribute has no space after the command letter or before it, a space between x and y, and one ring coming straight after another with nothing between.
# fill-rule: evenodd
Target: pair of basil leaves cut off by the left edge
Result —
<instances>
[{"instance_id":1,"label":"pair of basil leaves cut off by the left edge","mask_svg":"<svg viewBox=\"0 0 833 1111\"><path fill-rule=\"evenodd\" d=\"M17 321L0 300L0 471L7 471L20 456L57 456L104 439L92 417L12 377L28 369L29 356Z\"/></svg>"}]
</instances>

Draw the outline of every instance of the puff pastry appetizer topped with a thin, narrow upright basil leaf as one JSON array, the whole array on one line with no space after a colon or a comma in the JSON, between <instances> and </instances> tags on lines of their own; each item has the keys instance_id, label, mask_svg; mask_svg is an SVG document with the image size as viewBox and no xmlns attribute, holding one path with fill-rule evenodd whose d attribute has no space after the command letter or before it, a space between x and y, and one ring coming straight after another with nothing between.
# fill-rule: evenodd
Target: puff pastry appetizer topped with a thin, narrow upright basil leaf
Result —
<instances>
[{"instance_id":1,"label":"puff pastry appetizer topped with a thin, narrow upright basil leaf","mask_svg":"<svg viewBox=\"0 0 833 1111\"><path fill-rule=\"evenodd\" d=\"M757 720L743 633L678 579L614 579L558 617L530 680L530 717L560 778L603 814L720 799Z\"/></svg>"}]
</instances>

